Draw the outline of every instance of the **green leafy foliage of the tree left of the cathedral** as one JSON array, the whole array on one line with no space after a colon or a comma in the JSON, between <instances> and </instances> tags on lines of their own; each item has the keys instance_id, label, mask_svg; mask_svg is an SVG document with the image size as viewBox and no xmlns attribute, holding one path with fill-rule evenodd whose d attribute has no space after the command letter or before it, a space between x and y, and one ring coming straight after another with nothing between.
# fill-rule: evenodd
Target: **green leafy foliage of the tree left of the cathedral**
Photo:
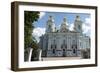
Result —
<instances>
[{"instance_id":1,"label":"green leafy foliage of the tree left of the cathedral","mask_svg":"<svg viewBox=\"0 0 100 73\"><path fill-rule=\"evenodd\" d=\"M33 42L32 31L34 29L33 22L37 21L39 18L39 12L25 11L24 12L24 48L28 48ZM35 42L33 42L34 45ZM36 45L36 43L35 43Z\"/></svg>"}]
</instances>

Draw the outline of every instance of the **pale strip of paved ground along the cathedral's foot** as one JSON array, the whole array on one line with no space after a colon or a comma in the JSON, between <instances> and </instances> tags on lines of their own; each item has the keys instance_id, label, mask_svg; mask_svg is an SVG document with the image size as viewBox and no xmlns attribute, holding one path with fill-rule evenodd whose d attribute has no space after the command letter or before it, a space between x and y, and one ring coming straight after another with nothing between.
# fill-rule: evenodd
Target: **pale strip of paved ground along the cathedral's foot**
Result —
<instances>
[{"instance_id":1,"label":"pale strip of paved ground along the cathedral's foot","mask_svg":"<svg viewBox=\"0 0 100 73\"><path fill-rule=\"evenodd\" d=\"M43 61L52 61L52 60L75 60L81 59L81 57L43 57Z\"/></svg>"}]
</instances>

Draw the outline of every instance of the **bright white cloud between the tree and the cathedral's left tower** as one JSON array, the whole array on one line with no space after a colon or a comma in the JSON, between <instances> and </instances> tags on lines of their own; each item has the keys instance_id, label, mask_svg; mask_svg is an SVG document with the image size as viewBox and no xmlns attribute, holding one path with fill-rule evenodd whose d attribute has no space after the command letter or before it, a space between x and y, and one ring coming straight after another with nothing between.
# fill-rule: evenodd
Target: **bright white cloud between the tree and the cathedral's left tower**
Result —
<instances>
[{"instance_id":1,"label":"bright white cloud between the tree and the cathedral's left tower","mask_svg":"<svg viewBox=\"0 0 100 73\"><path fill-rule=\"evenodd\" d=\"M33 30L33 37L35 37L35 39L37 40L37 42L39 42L40 40L40 36L42 36L43 34L45 34L45 28L40 28L40 27L37 27Z\"/></svg>"}]
</instances>

